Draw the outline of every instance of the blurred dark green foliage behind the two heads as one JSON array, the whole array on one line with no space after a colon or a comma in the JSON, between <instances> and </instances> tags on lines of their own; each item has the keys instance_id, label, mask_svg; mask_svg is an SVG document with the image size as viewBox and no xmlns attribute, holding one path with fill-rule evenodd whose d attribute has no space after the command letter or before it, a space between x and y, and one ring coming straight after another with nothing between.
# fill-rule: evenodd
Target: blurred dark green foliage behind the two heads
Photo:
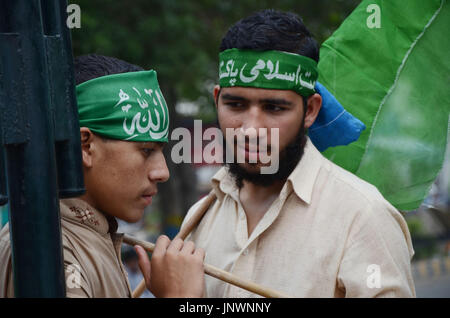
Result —
<instances>
[{"instance_id":1,"label":"blurred dark green foliage behind the two heads","mask_svg":"<svg viewBox=\"0 0 450 318\"><path fill-rule=\"evenodd\" d=\"M357 6L357 0L96 0L71 1L81 8L73 29L75 55L99 53L158 72L166 99L197 102L198 117L214 120L211 87L217 79L218 47L229 26L274 8L303 17L322 43Z\"/></svg>"}]
</instances>

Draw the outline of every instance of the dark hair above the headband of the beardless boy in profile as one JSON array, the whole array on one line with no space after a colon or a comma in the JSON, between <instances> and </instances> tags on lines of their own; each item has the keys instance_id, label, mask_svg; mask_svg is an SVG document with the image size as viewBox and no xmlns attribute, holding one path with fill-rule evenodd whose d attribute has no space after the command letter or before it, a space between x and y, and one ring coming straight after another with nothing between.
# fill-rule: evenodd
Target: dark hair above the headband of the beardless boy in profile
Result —
<instances>
[{"instance_id":1,"label":"dark hair above the headband of the beardless boy in profile","mask_svg":"<svg viewBox=\"0 0 450 318\"><path fill-rule=\"evenodd\" d=\"M98 54L81 55L74 60L75 84L112 74L139 72L140 66L119 60L115 57Z\"/></svg>"}]
</instances>

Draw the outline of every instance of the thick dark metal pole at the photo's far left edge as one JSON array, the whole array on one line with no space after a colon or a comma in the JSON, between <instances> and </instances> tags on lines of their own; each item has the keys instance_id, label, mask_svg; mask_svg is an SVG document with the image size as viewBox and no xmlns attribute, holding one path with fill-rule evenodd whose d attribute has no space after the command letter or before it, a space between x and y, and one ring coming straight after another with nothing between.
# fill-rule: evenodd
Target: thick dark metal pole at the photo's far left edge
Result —
<instances>
[{"instance_id":1,"label":"thick dark metal pole at the photo's far left edge","mask_svg":"<svg viewBox=\"0 0 450 318\"><path fill-rule=\"evenodd\" d=\"M57 171L39 0L0 0L0 103L16 297L65 297Z\"/></svg>"}]
</instances>

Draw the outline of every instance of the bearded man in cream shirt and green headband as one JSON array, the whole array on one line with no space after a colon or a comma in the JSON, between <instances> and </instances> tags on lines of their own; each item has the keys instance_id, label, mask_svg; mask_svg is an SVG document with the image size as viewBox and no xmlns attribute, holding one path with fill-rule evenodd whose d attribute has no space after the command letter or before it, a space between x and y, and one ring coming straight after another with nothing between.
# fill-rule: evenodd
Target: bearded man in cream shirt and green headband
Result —
<instances>
[{"instance_id":1,"label":"bearded man in cream shirt and green headband","mask_svg":"<svg viewBox=\"0 0 450 318\"><path fill-rule=\"evenodd\" d=\"M239 147L226 129L265 128L280 168L262 174L267 164L235 162L213 177L217 199L188 237L205 249L205 262L294 297L414 297L405 220L306 135L322 99L314 91L319 50L301 19L256 13L228 30L220 51L214 98L227 149ZM279 140L271 140L271 129ZM252 142L247 160L260 156ZM256 296L209 277L205 293Z\"/></svg>"}]
</instances>

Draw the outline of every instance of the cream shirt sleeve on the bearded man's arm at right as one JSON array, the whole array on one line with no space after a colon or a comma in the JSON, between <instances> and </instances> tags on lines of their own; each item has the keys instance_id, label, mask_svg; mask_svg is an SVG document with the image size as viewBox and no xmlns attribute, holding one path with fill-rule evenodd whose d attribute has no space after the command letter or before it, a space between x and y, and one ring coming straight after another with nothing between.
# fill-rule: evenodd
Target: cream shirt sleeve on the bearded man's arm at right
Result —
<instances>
[{"instance_id":1,"label":"cream shirt sleeve on the bearded man's arm at right","mask_svg":"<svg viewBox=\"0 0 450 318\"><path fill-rule=\"evenodd\" d=\"M345 297L415 297L413 255L402 215L386 202L371 203L351 226L338 287Z\"/></svg>"}]
</instances>

